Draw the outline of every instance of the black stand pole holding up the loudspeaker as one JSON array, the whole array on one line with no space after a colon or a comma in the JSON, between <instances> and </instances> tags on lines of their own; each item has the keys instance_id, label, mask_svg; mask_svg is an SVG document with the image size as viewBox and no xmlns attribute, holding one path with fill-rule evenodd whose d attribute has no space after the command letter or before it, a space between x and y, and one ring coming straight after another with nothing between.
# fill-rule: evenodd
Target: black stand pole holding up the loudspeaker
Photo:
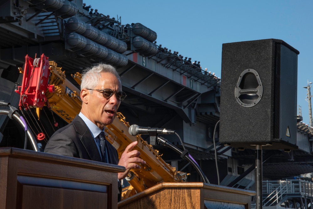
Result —
<instances>
[{"instance_id":1,"label":"black stand pole holding up the loudspeaker","mask_svg":"<svg viewBox=\"0 0 313 209\"><path fill-rule=\"evenodd\" d=\"M255 208L262 209L262 145L255 147Z\"/></svg>"}]
</instances>

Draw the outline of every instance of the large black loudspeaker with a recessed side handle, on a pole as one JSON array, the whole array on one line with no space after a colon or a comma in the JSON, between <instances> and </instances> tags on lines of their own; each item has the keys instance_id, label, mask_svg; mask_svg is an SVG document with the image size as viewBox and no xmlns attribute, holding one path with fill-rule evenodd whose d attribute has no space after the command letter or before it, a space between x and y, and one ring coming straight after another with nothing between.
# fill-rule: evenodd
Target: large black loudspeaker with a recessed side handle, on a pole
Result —
<instances>
[{"instance_id":1,"label":"large black loudspeaker with a recessed side handle, on a pole","mask_svg":"<svg viewBox=\"0 0 313 209\"><path fill-rule=\"evenodd\" d=\"M298 149L298 54L278 39L223 44L221 143Z\"/></svg>"}]
</instances>

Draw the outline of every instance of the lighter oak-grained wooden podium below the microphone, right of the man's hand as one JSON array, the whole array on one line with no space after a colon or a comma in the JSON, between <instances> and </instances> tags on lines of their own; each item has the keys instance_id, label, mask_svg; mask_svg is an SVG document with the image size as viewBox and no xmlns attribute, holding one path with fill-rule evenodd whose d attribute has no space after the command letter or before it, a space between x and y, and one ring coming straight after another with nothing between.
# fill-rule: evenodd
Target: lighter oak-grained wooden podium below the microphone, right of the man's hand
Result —
<instances>
[{"instance_id":1,"label":"lighter oak-grained wooden podium below the microphone, right of the man's hand","mask_svg":"<svg viewBox=\"0 0 313 209\"><path fill-rule=\"evenodd\" d=\"M119 209L250 209L254 191L205 183L161 183L118 203Z\"/></svg>"}]
</instances>

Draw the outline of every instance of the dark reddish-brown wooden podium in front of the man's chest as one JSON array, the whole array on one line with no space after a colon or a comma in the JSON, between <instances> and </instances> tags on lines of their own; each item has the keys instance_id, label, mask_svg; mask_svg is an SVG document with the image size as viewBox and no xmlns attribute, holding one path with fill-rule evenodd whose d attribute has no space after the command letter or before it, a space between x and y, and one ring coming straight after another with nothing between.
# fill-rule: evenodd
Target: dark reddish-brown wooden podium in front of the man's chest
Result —
<instances>
[{"instance_id":1,"label":"dark reddish-brown wooden podium in front of the man's chest","mask_svg":"<svg viewBox=\"0 0 313 209\"><path fill-rule=\"evenodd\" d=\"M122 166L0 148L0 209L117 208Z\"/></svg>"}]
</instances>

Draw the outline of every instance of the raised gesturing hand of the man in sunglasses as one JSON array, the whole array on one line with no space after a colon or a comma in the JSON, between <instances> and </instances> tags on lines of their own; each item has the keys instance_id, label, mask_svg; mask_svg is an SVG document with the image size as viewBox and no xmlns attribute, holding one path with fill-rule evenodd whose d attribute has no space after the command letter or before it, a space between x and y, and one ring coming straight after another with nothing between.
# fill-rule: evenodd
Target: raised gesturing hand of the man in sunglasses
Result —
<instances>
[{"instance_id":1,"label":"raised gesturing hand of the man in sunglasses","mask_svg":"<svg viewBox=\"0 0 313 209\"><path fill-rule=\"evenodd\" d=\"M140 152L138 150L132 150L137 144L137 141L129 144L123 152L118 165L124 166L126 171L124 173L117 174L118 180L125 178L131 169L140 169L141 167L138 164L146 164L146 161L139 158Z\"/></svg>"}]
</instances>

